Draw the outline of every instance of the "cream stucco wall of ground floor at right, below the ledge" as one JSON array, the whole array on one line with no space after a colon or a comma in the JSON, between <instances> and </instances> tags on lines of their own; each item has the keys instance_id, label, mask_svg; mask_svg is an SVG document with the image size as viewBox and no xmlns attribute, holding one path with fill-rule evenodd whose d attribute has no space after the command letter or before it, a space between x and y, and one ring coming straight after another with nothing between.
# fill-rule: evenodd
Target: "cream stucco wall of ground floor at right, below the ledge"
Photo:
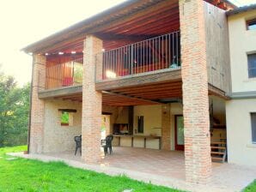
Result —
<instances>
[{"instance_id":1,"label":"cream stucco wall of ground floor at right, below the ledge","mask_svg":"<svg viewBox=\"0 0 256 192\"><path fill-rule=\"evenodd\" d=\"M229 100L226 110L229 163L256 165L250 117L250 112L256 112L256 99Z\"/></svg>"}]
</instances>

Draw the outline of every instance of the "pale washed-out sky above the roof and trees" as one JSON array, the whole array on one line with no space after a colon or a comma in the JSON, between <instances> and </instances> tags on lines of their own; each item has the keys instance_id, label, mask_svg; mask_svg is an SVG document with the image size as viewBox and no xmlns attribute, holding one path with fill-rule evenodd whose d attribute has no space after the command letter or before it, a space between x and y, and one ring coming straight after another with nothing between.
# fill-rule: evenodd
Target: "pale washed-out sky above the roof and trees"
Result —
<instances>
[{"instance_id":1,"label":"pale washed-out sky above the roof and trees","mask_svg":"<svg viewBox=\"0 0 256 192\"><path fill-rule=\"evenodd\" d=\"M256 0L230 0L238 6ZM89 2L89 3L88 3ZM0 7L0 65L20 85L30 81L32 57L21 48L123 0L8 0Z\"/></svg>"}]
</instances>

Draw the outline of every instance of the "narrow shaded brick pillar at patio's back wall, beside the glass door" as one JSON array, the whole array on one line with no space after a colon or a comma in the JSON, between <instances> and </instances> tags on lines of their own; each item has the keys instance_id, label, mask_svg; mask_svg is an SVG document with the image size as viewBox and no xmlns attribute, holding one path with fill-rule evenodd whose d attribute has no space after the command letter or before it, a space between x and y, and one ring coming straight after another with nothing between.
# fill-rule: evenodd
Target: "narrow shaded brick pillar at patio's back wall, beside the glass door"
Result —
<instances>
[{"instance_id":1,"label":"narrow shaded brick pillar at patio's back wall, beside the glass door","mask_svg":"<svg viewBox=\"0 0 256 192\"><path fill-rule=\"evenodd\" d=\"M171 149L171 114L170 105L162 105L162 149Z\"/></svg>"}]
</instances>

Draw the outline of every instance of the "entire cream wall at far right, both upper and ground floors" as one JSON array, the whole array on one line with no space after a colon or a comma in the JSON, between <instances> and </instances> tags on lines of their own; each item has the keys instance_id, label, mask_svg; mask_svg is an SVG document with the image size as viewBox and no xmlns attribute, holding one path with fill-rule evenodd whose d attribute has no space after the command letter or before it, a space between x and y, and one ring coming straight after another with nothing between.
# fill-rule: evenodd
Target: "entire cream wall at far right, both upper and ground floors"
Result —
<instances>
[{"instance_id":1,"label":"entire cream wall at far right, both upper and ground floors","mask_svg":"<svg viewBox=\"0 0 256 192\"><path fill-rule=\"evenodd\" d=\"M256 53L256 30L247 30L246 25L253 18L255 10L229 16L232 93L256 91L256 78L249 79L247 71L247 54ZM250 119L250 112L256 111L256 99L229 100L226 111L229 163L256 165Z\"/></svg>"}]
</instances>

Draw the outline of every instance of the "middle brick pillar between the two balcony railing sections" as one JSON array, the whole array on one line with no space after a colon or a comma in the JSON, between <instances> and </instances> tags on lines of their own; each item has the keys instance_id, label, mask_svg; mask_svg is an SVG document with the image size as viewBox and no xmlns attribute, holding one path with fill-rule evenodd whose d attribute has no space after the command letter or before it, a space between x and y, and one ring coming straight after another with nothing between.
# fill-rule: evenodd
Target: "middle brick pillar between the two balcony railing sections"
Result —
<instances>
[{"instance_id":1,"label":"middle brick pillar between the two balcony railing sections","mask_svg":"<svg viewBox=\"0 0 256 192\"><path fill-rule=\"evenodd\" d=\"M102 94L95 91L95 54L101 52L102 41L88 35L84 41L82 75L82 159L95 163L101 158Z\"/></svg>"}]
</instances>

